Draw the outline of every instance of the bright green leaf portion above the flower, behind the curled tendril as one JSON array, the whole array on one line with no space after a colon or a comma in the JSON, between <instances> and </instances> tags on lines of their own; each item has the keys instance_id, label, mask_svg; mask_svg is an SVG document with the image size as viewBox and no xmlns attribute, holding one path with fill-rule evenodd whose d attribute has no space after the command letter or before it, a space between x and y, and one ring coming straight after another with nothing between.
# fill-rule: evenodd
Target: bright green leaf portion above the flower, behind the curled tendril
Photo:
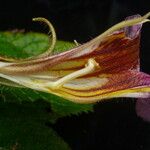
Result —
<instances>
[{"instance_id":1,"label":"bright green leaf portion above the flower, behind the curled tendril","mask_svg":"<svg viewBox=\"0 0 150 150\"><path fill-rule=\"evenodd\" d=\"M70 42L57 41L54 53L58 53L75 45ZM47 50L49 37L42 33L0 32L0 55L12 58L36 56Z\"/></svg>"}]
</instances>

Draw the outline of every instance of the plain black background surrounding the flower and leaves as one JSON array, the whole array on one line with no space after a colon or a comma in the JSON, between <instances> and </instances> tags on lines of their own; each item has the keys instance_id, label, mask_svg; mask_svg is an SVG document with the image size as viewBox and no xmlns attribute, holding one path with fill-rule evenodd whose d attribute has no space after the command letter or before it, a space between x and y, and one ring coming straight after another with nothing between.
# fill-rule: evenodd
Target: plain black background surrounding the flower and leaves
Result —
<instances>
[{"instance_id":1,"label":"plain black background surrounding the flower and leaves","mask_svg":"<svg viewBox=\"0 0 150 150\"><path fill-rule=\"evenodd\" d=\"M49 19L58 39L79 43L133 14L150 11L148 0L3 0L0 30L43 31L33 17ZM141 69L150 73L149 24L142 29ZM149 150L150 124L138 118L135 101L117 99L95 106L95 112L60 119L54 126L74 150Z\"/></svg>"}]
</instances>

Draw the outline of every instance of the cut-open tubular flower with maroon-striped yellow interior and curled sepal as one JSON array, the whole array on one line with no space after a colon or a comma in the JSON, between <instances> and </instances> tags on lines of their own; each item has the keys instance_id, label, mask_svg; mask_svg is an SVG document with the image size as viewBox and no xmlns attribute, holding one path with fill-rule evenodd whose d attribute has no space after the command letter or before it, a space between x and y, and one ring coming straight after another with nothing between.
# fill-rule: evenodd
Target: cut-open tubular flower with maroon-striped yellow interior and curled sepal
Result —
<instances>
[{"instance_id":1,"label":"cut-open tubular flower with maroon-striped yellow interior and curled sepal","mask_svg":"<svg viewBox=\"0 0 150 150\"><path fill-rule=\"evenodd\" d=\"M56 55L52 46L34 58L1 57L1 83L55 94L77 103L94 103L113 97L147 98L150 75L140 72L139 45L142 24L150 13L131 16L91 41ZM4 81L3 79L6 79Z\"/></svg>"}]
</instances>

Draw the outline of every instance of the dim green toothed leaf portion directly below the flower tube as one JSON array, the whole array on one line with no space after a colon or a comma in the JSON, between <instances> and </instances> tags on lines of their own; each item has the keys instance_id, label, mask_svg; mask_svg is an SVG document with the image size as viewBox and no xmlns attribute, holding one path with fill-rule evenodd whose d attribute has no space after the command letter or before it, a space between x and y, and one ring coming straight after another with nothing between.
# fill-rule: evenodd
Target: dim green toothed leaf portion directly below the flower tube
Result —
<instances>
[{"instance_id":1,"label":"dim green toothed leaf portion directly below the flower tube","mask_svg":"<svg viewBox=\"0 0 150 150\"><path fill-rule=\"evenodd\" d=\"M39 99L49 102L52 110L49 118L51 123L55 123L57 119L61 117L70 116L72 114L79 115L83 112L88 113L89 111L93 111L93 104L77 104L49 93L3 85L1 85L0 89L0 96L4 102L34 102Z\"/></svg>"}]
</instances>

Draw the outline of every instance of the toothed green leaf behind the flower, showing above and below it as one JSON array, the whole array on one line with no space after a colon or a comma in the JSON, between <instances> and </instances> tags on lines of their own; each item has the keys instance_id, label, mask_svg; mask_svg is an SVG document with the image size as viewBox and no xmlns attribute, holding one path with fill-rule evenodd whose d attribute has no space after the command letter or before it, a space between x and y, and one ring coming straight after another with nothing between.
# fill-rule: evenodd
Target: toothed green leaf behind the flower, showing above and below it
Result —
<instances>
[{"instance_id":1,"label":"toothed green leaf behind the flower, showing above and below it","mask_svg":"<svg viewBox=\"0 0 150 150\"><path fill-rule=\"evenodd\" d=\"M59 53L75 46L74 43L57 41L54 53ZM13 33L0 32L0 55L14 58L26 58L38 55L49 47L49 37L41 33ZM1 97L4 101L22 102L44 99L49 102L53 113L50 121L55 122L58 118L68 115L78 115L82 112L93 111L93 105L75 104L61 97L15 87L1 86Z\"/></svg>"}]
</instances>

